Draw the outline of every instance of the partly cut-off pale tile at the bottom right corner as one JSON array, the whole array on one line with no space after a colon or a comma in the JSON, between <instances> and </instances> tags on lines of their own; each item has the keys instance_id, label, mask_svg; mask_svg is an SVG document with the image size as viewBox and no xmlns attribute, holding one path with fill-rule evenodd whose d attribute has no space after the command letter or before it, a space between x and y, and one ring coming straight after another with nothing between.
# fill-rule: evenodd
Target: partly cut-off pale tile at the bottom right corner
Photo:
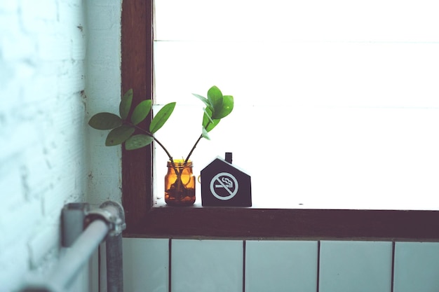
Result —
<instances>
[{"instance_id":1,"label":"partly cut-off pale tile at the bottom right corner","mask_svg":"<svg viewBox=\"0 0 439 292\"><path fill-rule=\"evenodd\" d=\"M394 292L439 291L439 243L396 242Z\"/></svg>"}]
</instances>

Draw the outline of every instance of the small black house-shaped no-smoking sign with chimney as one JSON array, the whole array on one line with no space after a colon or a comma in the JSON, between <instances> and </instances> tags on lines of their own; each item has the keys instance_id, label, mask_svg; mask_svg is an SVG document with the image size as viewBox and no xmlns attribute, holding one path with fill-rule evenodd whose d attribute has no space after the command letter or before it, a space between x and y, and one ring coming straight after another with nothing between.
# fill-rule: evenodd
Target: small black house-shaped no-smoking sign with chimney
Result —
<instances>
[{"instance_id":1,"label":"small black house-shaped no-smoking sign with chimney","mask_svg":"<svg viewBox=\"0 0 439 292\"><path fill-rule=\"evenodd\" d=\"M248 174L226 159L216 158L201 170L201 201L203 206L251 207L252 185Z\"/></svg>"}]
</instances>

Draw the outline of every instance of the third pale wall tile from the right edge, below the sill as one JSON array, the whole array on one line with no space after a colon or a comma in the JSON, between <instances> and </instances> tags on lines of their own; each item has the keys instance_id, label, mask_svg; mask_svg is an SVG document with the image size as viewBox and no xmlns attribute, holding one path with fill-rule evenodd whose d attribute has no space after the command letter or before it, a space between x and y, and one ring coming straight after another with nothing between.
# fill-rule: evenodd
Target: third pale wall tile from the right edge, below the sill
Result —
<instances>
[{"instance_id":1,"label":"third pale wall tile from the right edge, below the sill","mask_svg":"<svg viewBox=\"0 0 439 292\"><path fill-rule=\"evenodd\" d=\"M247 241L245 291L316 292L317 242Z\"/></svg>"}]
</instances>

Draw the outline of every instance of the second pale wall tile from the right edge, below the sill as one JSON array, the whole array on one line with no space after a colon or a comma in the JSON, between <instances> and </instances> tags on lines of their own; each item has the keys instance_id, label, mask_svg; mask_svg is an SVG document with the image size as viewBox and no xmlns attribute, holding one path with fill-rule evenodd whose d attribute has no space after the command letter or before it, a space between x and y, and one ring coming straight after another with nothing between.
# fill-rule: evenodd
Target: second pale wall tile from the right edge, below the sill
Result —
<instances>
[{"instance_id":1,"label":"second pale wall tile from the right edge, below the sill","mask_svg":"<svg viewBox=\"0 0 439 292\"><path fill-rule=\"evenodd\" d=\"M390 292L391 242L320 243L320 292Z\"/></svg>"}]
</instances>

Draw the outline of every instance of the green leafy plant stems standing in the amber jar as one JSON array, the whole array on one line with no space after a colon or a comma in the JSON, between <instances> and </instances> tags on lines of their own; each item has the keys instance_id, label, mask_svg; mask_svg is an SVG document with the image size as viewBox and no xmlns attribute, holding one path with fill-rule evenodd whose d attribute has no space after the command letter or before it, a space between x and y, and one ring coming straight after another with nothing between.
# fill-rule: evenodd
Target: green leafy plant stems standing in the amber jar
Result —
<instances>
[{"instance_id":1,"label":"green leafy plant stems standing in the amber jar","mask_svg":"<svg viewBox=\"0 0 439 292\"><path fill-rule=\"evenodd\" d=\"M205 104L205 107L203 108L204 113L200 137L198 137L186 159L184 159L184 165L187 165L187 162L198 145L198 142L203 138L210 139L208 132L216 127L219 121L228 116L234 109L234 97L231 95L222 95L221 90L216 86L212 86L208 90L207 98L201 95L193 95L200 99ZM169 161L173 165L175 174L177 174L177 181L175 182L174 187L177 190L184 188L184 184L181 181L182 170L179 171L177 169L173 156L170 155L161 141L158 141L154 136L154 134L168 121L168 118L175 109L176 103L170 102L163 106L160 111L156 113L156 116L152 118L149 129L140 127L140 123L149 116L149 113L151 113L151 100L147 99L140 102L135 106L133 111L132 103L133 90L130 89L121 99L119 104L119 116L114 113L96 113L90 118L88 125L97 130L110 130L107 139L105 140L106 146L125 144L127 150L134 150L147 146L155 141L161 146L161 148L163 148L163 151L166 152Z\"/></svg>"}]
</instances>

